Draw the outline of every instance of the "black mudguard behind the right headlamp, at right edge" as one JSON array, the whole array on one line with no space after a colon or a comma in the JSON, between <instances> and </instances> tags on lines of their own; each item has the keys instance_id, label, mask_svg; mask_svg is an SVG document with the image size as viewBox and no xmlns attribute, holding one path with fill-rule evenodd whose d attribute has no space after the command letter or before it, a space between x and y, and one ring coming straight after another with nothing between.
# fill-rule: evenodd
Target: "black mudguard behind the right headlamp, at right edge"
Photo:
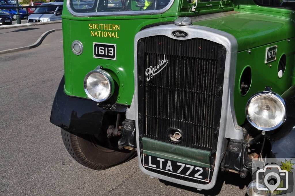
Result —
<instances>
[{"instance_id":1,"label":"black mudguard behind the right headlamp, at right edge","mask_svg":"<svg viewBox=\"0 0 295 196\"><path fill-rule=\"evenodd\" d=\"M295 158L295 85L282 97L286 102L287 118L269 138L271 143L269 158Z\"/></svg>"}]
</instances>

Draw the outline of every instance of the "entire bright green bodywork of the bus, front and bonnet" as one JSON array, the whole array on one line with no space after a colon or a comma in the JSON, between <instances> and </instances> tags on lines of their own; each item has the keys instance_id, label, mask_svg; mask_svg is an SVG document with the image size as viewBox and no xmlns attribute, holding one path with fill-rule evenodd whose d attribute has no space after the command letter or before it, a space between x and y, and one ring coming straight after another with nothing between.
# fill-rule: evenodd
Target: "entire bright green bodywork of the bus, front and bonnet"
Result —
<instances>
[{"instance_id":1,"label":"entire bright green bodywork of the bus, front and bonnet","mask_svg":"<svg viewBox=\"0 0 295 196\"><path fill-rule=\"evenodd\" d=\"M171 8L162 14L139 16L100 16L75 17L63 10L63 44L65 66L65 93L71 96L87 98L83 88L85 75L102 66L115 80L118 92L111 101L130 105L134 93L134 37L143 27L160 22L171 22L177 17L197 16L216 12L235 10L239 13L223 17L204 19L194 22L232 34L238 42L237 68L234 90L234 104L238 124L245 122L245 104L249 97L265 86L271 86L274 92L282 94L294 81L295 24L290 10L263 7L252 0L216 1L199 3L196 12L191 12L193 4L187 0L175 0ZM64 4L66 7L66 4ZM89 24L118 25L116 37L97 37L91 34ZM71 51L71 43L79 40L83 43L83 53L79 56ZM287 41L289 40L289 42ZM93 43L111 43L117 45L117 59L93 58ZM277 60L265 64L266 47L278 45ZM248 53L251 50L251 53ZM286 55L286 71L281 79L277 69L280 57ZM271 65L271 67L270 67ZM242 96L239 80L246 66L252 70L252 83L248 94Z\"/></svg>"}]
</instances>

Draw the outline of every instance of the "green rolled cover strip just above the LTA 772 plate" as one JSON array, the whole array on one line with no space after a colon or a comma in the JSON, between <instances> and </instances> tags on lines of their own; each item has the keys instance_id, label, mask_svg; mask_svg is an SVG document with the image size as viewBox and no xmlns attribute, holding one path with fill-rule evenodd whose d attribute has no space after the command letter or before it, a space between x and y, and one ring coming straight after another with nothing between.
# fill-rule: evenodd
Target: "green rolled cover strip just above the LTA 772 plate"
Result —
<instances>
[{"instance_id":1,"label":"green rolled cover strip just above the LTA 772 plate","mask_svg":"<svg viewBox=\"0 0 295 196\"><path fill-rule=\"evenodd\" d=\"M210 168L210 151L142 138L143 153L163 159Z\"/></svg>"}]
</instances>

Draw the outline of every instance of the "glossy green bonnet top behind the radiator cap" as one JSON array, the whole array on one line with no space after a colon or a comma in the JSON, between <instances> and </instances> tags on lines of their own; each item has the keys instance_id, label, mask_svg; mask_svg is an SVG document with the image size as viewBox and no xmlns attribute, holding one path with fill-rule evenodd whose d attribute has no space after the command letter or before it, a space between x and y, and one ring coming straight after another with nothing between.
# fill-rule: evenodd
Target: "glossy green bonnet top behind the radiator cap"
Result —
<instances>
[{"instance_id":1,"label":"glossy green bonnet top behind the radiator cap","mask_svg":"<svg viewBox=\"0 0 295 196\"><path fill-rule=\"evenodd\" d=\"M201 20L201 25L232 34L238 42L238 51L256 48L270 42L294 37L295 23L289 19L267 15L237 13Z\"/></svg>"}]
</instances>

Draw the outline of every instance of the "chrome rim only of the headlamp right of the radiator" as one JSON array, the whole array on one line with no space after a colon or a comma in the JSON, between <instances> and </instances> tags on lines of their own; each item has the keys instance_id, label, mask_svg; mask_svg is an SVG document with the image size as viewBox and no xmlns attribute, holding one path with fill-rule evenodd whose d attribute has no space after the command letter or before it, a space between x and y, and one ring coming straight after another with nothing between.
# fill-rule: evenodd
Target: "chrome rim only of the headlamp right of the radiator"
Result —
<instances>
[{"instance_id":1,"label":"chrome rim only of the headlamp right of the radiator","mask_svg":"<svg viewBox=\"0 0 295 196\"><path fill-rule=\"evenodd\" d=\"M250 103L252 102L252 100L258 96L261 96L261 95L270 95L272 97L275 97L276 99L278 99L279 102L281 102L281 104L283 105L283 109L284 109L284 116L283 116L283 119L276 125L276 126L273 126L273 127L269 127L269 128L266 128L266 127L261 127L257 124L255 124L255 122L253 122L250 118L250 115L249 115L249 105ZM258 130L261 130L261 131L271 131L271 130L275 130L277 128L279 128L286 120L287 118L287 110L286 110L286 103L285 103L285 100L277 93L275 92L269 92L269 91L260 91L260 92L257 92L255 93L254 95L252 95L250 97L250 99L248 100L247 104L246 104L246 108L245 108L245 112L246 112L246 117L247 117L247 120L248 122L253 126L255 127L256 129Z\"/></svg>"}]
</instances>

